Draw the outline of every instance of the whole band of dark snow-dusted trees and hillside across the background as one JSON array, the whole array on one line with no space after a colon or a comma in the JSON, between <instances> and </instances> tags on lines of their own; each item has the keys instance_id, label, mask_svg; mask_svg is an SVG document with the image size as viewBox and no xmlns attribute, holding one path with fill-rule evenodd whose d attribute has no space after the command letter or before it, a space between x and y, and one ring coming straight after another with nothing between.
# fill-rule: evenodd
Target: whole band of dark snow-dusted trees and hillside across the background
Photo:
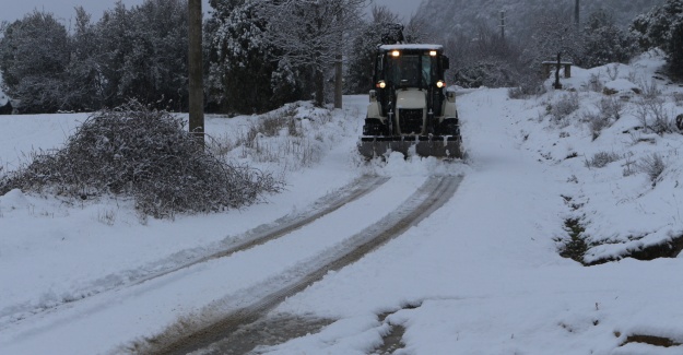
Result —
<instances>
[{"instance_id":1,"label":"whole band of dark snow-dusted trees and hillside across the background","mask_svg":"<svg viewBox=\"0 0 683 355\"><path fill-rule=\"evenodd\" d=\"M333 66L344 61L344 92L366 93L372 61L391 24L409 43L443 44L449 84L516 86L533 93L540 61L591 68L627 62L659 47L683 73L683 0L425 0L401 19L390 8L363 16L365 0L211 0L204 22L205 107L262 113L297 99L330 102ZM602 4L602 7L601 7ZM495 7L496 9L493 9ZM499 11L506 10L505 36ZM639 14L639 15L638 15ZM637 16L637 17L636 17ZM68 25L32 12L0 27L0 73L22 113L91 111L136 98L187 110L187 0L121 2L93 22L76 8Z\"/></svg>"}]
</instances>

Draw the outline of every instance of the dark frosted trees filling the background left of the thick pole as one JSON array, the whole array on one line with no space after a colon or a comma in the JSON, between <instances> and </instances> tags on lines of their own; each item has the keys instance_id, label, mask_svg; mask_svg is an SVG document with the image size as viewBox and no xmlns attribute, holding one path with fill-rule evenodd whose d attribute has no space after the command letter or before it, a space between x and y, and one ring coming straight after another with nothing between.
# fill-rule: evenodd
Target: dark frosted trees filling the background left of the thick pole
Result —
<instances>
[{"instance_id":1,"label":"dark frosted trees filling the background left of the thick pole","mask_svg":"<svg viewBox=\"0 0 683 355\"><path fill-rule=\"evenodd\" d=\"M70 28L34 11L2 27L0 71L22 113L89 111L130 97L187 107L187 2L118 2L94 23L76 8Z\"/></svg>"}]
</instances>

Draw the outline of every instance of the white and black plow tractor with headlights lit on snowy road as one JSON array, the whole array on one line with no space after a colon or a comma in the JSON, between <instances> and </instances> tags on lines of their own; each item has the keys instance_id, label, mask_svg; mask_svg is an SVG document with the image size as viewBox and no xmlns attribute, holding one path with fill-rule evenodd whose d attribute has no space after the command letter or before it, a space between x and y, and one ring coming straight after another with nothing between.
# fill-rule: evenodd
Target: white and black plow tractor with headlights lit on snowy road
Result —
<instances>
[{"instance_id":1,"label":"white and black plow tractor with headlights lit on snowy road","mask_svg":"<svg viewBox=\"0 0 683 355\"><path fill-rule=\"evenodd\" d=\"M446 87L449 67L440 45L382 45L375 87L358 142L366 158L387 152L462 158L456 92Z\"/></svg>"}]
</instances>

